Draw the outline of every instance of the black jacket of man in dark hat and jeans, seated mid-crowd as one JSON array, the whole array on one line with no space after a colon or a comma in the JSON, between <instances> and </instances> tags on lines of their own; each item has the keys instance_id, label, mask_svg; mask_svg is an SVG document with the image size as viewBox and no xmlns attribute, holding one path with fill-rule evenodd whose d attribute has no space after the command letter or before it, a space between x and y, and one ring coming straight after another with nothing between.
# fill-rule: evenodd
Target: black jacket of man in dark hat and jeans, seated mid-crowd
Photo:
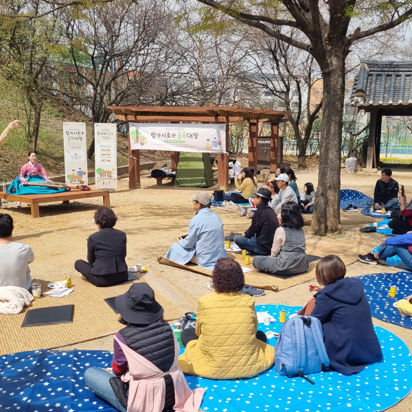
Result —
<instances>
[{"instance_id":1,"label":"black jacket of man in dark hat and jeans, seated mid-crowd","mask_svg":"<svg viewBox=\"0 0 412 412\"><path fill-rule=\"evenodd\" d=\"M245 238L253 238L256 235L258 247L265 253L270 255L273 245L275 231L279 227L275 211L266 203L260 203L258 209L253 213L252 224L249 229L244 232Z\"/></svg>"}]
</instances>

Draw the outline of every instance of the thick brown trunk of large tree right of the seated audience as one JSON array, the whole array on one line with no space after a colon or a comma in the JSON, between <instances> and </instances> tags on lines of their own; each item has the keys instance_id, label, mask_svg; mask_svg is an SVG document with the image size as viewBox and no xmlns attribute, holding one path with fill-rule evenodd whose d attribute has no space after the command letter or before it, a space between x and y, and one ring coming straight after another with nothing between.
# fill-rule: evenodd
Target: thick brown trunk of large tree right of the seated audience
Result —
<instances>
[{"instance_id":1,"label":"thick brown trunk of large tree right of the seated audience","mask_svg":"<svg viewBox=\"0 0 412 412\"><path fill-rule=\"evenodd\" d=\"M333 56L323 72L323 115L319 152L319 176L314 200L312 232L324 236L341 230L341 146L345 58Z\"/></svg>"}]
</instances>

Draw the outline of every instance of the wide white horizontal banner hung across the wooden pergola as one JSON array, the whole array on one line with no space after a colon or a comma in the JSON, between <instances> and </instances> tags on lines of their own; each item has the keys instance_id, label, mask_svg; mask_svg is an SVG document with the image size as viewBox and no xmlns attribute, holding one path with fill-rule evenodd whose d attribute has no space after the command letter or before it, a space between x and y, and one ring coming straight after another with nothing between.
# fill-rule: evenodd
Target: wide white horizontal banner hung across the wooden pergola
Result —
<instances>
[{"instance_id":1,"label":"wide white horizontal banner hung across the wooden pergola","mask_svg":"<svg viewBox=\"0 0 412 412\"><path fill-rule=\"evenodd\" d=\"M132 150L225 153L226 124L129 123Z\"/></svg>"}]
</instances>

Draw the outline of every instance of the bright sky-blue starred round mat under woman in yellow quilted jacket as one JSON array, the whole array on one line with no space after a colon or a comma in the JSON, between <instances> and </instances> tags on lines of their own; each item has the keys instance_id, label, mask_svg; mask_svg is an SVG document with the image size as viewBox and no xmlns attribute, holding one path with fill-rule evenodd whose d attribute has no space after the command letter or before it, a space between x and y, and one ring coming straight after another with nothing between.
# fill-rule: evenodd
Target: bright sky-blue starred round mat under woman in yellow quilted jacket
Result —
<instances>
[{"instance_id":1,"label":"bright sky-blue starred round mat under woman in yellow quilted jacket","mask_svg":"<svg viewBox=\"0 0 412 412\"><path fill-rule=\"evenodd\" d=\"M257 311L275 317L270 327L259 329L279 332L279 310L286 314L300 307L256 306ZM375 327L385 361L366 367L360 374L343 376L337 372L310 375L315 385L301 378L286 378L272 367L255 378L211 380L186 376L190 387L206 388L201 409L206 412L328 412L384 411L398 403L412 389L412 358L405 343L393 333ZM268 343L275 344L276 339Z\"/></svg>"}]
</instances>

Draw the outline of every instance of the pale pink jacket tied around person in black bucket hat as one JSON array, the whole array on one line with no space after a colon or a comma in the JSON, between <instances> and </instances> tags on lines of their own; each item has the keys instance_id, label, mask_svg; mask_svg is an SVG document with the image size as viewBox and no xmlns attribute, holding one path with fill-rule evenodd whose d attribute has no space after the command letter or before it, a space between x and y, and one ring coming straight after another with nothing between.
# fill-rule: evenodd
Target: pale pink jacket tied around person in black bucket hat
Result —
<instances>
[{"instance_id":1,"label":"pale pink jacket tied around person in black bucket hat","mask_svg":"<svg viewBox=\"0 0 412 412\"><path fill-rule=\"evenodd\" d=\"M193 391L187 385L181 368L177 366L180 347L174 338L174 363L169 371L162 372L150 361L124 345L115 336L115 340L127 358L129 370L122 376L129 382L127 412L161 412L165 406L165 380L163 376L170 374L174 384L174 411L198 412L205 389Z\"/></svg>"}]
</instances>

